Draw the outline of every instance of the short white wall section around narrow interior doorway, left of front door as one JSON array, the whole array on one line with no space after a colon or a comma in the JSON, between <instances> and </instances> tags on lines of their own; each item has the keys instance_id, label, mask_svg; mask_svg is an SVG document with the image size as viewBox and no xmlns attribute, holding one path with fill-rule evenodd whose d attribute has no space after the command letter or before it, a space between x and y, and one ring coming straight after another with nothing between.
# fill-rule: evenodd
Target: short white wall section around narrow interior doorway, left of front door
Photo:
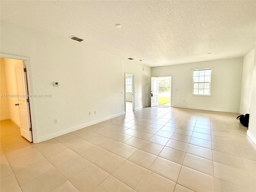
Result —
<instances>
[{"instance_id":1,"label":"short white wall section around narrow interior doorway, left of front door","mask_svg":"<svg viewBox=\"0 0 256 192\"><path fill-rule=\"evenodd\" d=\"M134 74L135 110L150 105L151 68L125 59L124 72Z\"/></svg>"}]
</instances>

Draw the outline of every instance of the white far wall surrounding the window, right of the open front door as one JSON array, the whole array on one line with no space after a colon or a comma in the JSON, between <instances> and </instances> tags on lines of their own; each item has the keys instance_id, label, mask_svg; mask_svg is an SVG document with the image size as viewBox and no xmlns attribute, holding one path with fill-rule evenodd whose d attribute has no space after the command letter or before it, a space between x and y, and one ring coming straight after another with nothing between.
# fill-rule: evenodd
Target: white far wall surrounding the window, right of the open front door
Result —
<instances>
[{"instance_id":1,"label":"white far wall surrounding the window, right of the open front door","mask_svg":"<svg viewBox=\"0 0 256 192\"><path fill-rule=\"evenodd\" d=\"M239 112L242 65L242 57L194 62L154 67L152 76L172 76L172 106ZM211 96L193 96L193 70L204 68L212 68Z\"/></svg>"}]
</instances>

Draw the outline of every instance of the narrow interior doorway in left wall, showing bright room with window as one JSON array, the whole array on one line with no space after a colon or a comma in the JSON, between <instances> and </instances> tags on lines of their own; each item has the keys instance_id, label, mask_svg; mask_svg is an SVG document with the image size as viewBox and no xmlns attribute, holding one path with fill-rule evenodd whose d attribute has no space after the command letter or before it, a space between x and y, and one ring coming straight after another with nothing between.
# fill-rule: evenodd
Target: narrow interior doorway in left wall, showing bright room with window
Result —
<instances>
[{"instance_id":1,"label":"narrow interior doorway in left wall, showing bright room with window","mask_svg":"<svg viewBox=\"0 0 256 192\"><path fill-rule=\"evenodd\" d=\"M134 111L134 74L125 73L125 112Z\"/></svg>"}]
</instances>

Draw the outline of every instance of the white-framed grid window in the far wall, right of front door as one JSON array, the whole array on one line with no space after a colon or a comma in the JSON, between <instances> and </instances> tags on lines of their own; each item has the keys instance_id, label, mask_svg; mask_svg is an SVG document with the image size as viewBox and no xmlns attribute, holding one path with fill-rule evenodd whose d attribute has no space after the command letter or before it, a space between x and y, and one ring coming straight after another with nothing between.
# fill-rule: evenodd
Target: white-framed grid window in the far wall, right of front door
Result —
<instances>
[{"instance_id":1,"label":"white-framed grid window in the far wall, right of front door","mask_svg":"<svg viewBox=\"0 0 256 192\"><path fill-rule=\"evenodd\" d=\"M211 69L193 71L193 95L210 96Z\"/></svg>"}]
</instances>

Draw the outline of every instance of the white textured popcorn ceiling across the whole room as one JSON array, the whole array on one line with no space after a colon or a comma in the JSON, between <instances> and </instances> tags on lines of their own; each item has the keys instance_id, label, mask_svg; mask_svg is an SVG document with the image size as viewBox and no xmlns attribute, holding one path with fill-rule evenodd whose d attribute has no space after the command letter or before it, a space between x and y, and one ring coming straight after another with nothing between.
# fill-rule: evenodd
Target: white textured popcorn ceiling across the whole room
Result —
<instances>
[{"instance_id":1,"label":"white textured popcorn ceiling across the whole room","mask_svg":"<svg viewBox=\"0 0 256 192\"><path fill-rule=\"evenodd\" d=\"M256 43L256 1L1 0L0 6L1 20L74 35L84 39L77 43L151 67L244 56Z\"/></svg>"}]
</instances>

